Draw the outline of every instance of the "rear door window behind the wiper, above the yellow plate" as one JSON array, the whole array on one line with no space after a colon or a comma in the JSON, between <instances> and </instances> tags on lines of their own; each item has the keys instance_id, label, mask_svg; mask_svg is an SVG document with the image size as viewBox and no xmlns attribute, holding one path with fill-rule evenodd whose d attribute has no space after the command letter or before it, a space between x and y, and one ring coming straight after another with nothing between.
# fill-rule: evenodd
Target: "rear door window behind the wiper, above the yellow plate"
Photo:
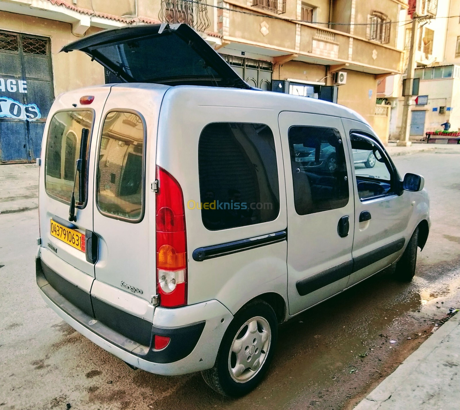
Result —
<instances>
[{"instance_id":1,"label":"rear door window behind the wiper, above the yellow plate","mask_svg":"<svg viewBox=\"0 0 460 410\"><path fill-rule=\"evenodd\" d=\"M70 203L75 178L80 178L75 164L80 156L81 134L83 129L91 135L94 114L91 110L61 111L51 120L46 141L45 159L45 190L58 201ZM86 144L85 163L89 154L89 143ZM87 172L81 181L83 192L79 192L79 184L75 185L76 205L86 203ZM81 201L78 201L78 198Z\"/></svg>"}]
</instances>

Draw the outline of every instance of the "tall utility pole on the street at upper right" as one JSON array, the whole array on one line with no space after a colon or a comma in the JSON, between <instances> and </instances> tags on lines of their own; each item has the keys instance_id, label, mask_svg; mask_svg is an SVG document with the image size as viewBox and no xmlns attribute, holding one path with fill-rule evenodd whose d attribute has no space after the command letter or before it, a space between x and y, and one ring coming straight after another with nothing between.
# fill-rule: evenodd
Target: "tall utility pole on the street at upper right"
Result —
<instances>
[{"instance_id":1,"label":"tall utility pole on the street at upper right","mask_svg":"<svg viewBox=\"0 0 460 410\"><path fill-rule=\"evenodd\" d=\"M412 31L410 36L410 47L409 47L409 61L407 66L407 77L406 77L406 88L403 90L405 94L404 105L403 105L403 122L401 124L401 131L399 133L399 141L397 146L399 147L410 147L412 143L409 141L410 135L410 121L409 121L409 110L410 105L412 105L412 86L414 84L414 75L415 75L415 52L416 46L419 43L419 6L420 0L417 0L415 6L415 12L412 15Z\"/></svg>"}]
</instances>

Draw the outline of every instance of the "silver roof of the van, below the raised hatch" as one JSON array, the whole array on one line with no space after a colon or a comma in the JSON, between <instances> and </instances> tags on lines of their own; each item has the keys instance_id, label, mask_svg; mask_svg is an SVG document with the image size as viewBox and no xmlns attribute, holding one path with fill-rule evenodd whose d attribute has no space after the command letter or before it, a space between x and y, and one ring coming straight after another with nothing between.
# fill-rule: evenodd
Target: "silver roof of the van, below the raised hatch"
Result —
<instances>
[{"instance_id":1,"label":"silver roof of the van, below the raised hatch","mask_svg":"<svg viewBox=\"0 0 460 410\"><path fill-rule=\"evenodd\" d=\"M91 88L91 87L89 87ZM305 112L320 115L332 115L348 118L369 125L360 114L340 104L318 100L316 98L299 97L281 92L243 90L238 88L219 88L202 86L175 86L168 87L148 83L121 83L114 84L112 92L116 89L133 88L136 92L165 92L165 98L188 98L197 105L240 107L259 110L274 110Z\"/></svg>"}]
</instances>

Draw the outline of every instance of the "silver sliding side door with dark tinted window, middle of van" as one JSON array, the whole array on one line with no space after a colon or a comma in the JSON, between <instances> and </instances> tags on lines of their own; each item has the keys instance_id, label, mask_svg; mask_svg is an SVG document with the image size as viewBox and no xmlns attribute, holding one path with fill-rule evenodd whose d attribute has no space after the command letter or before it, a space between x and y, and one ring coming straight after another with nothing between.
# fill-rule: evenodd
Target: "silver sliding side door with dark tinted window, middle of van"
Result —
<instances>
[{"instance_id":1,"label":"silver sliding side door with dark tinted window, middle of van","mask_svg":"<svg viewBox=\"0 0 460 410\"><path fill-rule=\"evenodd\" d=\"M279 115L288 206L288 300L295 314L343 290L353 262L353 185L342 122Z\"/></svg>"}]
</instances>

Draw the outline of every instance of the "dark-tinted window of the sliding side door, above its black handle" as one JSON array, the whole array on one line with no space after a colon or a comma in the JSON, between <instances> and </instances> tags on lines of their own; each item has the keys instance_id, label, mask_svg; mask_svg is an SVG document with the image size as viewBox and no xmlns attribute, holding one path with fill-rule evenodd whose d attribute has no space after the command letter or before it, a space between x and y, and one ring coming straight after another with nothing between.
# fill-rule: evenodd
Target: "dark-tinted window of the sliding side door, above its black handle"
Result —
<instances>
[{"instance_id":1,"label":"dark-tinted window of the sliding side door, above its black handle","mask_svg":"<svg viewBox=\"0 0 460 410\"><path fill-rule=\"evenodd\" d=\"M348 177L342 137L334 128L289 128L294 205L299 215L343 208Z\"/></svg>"}]
</instances>

